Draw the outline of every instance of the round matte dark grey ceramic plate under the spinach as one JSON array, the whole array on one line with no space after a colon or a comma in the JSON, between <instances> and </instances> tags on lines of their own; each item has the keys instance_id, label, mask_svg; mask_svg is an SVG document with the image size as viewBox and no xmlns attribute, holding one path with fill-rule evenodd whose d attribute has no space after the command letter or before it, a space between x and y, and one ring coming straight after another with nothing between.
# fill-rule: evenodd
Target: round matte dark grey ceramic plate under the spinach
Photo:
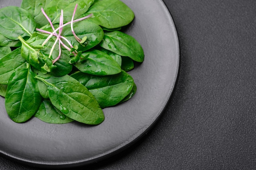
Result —
<instances>
[{"instance_id":1,"label":"round matte dark grey ceramic plate under the spinach","mask_svg":"<svg viewBox=\"0 0 256 170\"><path fill-rule=\"evenodd\" d=\"M179 44L171 15L162 0L122 0L135 20L126 33L139 41L145 60L129 72L137 93L121 105L103 109L98 126L47 124L32 118L9 119L0 97L0 153L38 167L72 167L106 158L141 137L164 110L177 78ZM1 0L0 7L21 0Z\"/></svg>"}]
</instances>

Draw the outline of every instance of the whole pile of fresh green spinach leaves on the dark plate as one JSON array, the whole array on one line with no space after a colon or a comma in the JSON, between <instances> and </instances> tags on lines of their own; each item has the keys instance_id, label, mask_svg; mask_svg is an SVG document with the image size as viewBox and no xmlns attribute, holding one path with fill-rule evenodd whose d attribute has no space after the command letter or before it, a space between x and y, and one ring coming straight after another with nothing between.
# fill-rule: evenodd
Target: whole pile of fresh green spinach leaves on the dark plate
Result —
<instances>
[{"instance_id":1,"label":"whole pile of fresh green spinach leaves on the dark plate","mask_svg":"<svg viewBox=\"0 0 256 170\"><path fill-rule=\"evenodd\" d=\"M0 9L0 95L11 120L103 122L103 108L137 90L127 72L144 52L121 32L134 17L120 0L23 0Z\"/></svg>"}]
</instances>

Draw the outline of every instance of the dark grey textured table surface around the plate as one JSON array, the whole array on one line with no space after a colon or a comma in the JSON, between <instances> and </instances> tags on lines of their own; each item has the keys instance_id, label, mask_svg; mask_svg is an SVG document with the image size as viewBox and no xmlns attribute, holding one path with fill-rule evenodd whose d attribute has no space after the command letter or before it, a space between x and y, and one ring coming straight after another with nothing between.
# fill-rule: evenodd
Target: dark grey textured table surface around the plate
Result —
<instances>
[{"instance_id":1,"label":"dark grey textured table surface around the plate","mask_svg":"<svg viewBox=\"0 0 256 170\"><path fill-rule=\"evenodd\" d=\"M180 74L144 137L77 170L255 169L256 1L164 0L180 43ZM0 157L1 170L38 170Z\"/></svg>"}]
</instances>

